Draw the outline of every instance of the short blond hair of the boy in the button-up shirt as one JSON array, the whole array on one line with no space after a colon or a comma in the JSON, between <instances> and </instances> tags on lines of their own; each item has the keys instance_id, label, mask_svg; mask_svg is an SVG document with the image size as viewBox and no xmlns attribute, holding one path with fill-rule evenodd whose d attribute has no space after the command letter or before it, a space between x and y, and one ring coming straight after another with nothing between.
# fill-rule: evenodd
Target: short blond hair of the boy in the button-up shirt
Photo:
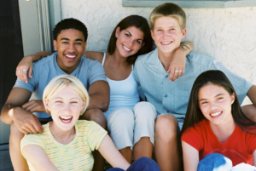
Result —
<instances>
[{"instance_id":1,"label":"short blond hair of the boy in the button-up shirt","mask_svg":"<svg viewBox=\"0 0 256 171\"><path fill-rule=\"evenodd\" d=\"M160 17L172 17L177 20L181 30L186 28L186 14L182 8L175 3L163 3L153 9L149 16L151 30L154 30L154 21Z\"/></svg>"}]
</instances>

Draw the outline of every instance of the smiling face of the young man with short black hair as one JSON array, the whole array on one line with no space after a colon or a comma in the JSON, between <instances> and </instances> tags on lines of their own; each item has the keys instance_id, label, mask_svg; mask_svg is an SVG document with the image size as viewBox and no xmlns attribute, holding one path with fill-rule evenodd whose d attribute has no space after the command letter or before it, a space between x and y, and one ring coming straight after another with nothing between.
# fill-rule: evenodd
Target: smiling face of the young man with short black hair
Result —
<instances>
[{"instance_id":1,"label":"smiling face of the young man with short black hair","mask_svg":"<svg viewBox=\"0 0 256 171\"><path fill-rule=\"evenodd\" d=\"M79 66L80 59L86 48L82 31L75 29L62 30L57 40L54 40L54 46L58 52L58 66L60 66L61 70L70 74Z\"/></svg>"}]
</instances>

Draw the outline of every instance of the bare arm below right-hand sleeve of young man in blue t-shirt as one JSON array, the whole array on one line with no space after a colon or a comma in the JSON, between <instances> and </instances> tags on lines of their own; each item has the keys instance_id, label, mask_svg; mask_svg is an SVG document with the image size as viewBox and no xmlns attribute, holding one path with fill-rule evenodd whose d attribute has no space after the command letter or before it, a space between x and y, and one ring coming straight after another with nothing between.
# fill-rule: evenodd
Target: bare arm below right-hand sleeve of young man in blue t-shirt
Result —
<instances>
[{"instance_id":1,"label":"bare arm below right-hand sleeve of young man in blue t-shirt","mask_svg":"<svg viewBox=\"0 0 256 171\"><path fill-rule=\"evenodd\" d=\"M108 111L109 85L105 81L96 81L89 88L90 102L87 109L100 109Z\"/></svg>"}]
</instances>

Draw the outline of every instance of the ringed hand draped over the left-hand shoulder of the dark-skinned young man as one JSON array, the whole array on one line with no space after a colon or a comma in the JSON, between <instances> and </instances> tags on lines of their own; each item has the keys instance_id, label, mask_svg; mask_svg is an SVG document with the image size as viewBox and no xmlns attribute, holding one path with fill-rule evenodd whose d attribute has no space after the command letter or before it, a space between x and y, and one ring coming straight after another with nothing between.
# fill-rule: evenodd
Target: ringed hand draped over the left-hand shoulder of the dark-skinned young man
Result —
<instances>
[{"instance_id":1,"label":"ringed hand draped over the left-hand shoulder of the dark-skinned young man","mask_svg":"<svg viewBox=\"0 0 256 171\"><path fill-rule=\"evenodd\" d=\"M26 83L27 75L32 78L32 55L25 56L16 68L16 76Z\"/></svg>"}]
</instances>

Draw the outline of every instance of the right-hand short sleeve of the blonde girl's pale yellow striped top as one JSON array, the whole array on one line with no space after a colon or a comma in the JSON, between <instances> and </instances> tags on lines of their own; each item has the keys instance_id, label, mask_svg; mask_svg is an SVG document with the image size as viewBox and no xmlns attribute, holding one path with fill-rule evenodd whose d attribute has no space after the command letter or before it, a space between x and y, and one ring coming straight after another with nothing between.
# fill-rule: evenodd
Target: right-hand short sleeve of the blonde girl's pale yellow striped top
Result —
<instances>
[{"instance_id":1,"label":"right-hand short sleeve of the blonde girl's pale yellow striped top","mask_svg":"<svg viewBox=\"0 0 256 171\"><path fill-rule=\"evenodd\" d=\"M90 126L87 130L87 144L90 146L90 151L98 150L102 144L102 140L107 134L107 131L103 129L99 124L90 122Z\"/></svg>"}]
</instances>

